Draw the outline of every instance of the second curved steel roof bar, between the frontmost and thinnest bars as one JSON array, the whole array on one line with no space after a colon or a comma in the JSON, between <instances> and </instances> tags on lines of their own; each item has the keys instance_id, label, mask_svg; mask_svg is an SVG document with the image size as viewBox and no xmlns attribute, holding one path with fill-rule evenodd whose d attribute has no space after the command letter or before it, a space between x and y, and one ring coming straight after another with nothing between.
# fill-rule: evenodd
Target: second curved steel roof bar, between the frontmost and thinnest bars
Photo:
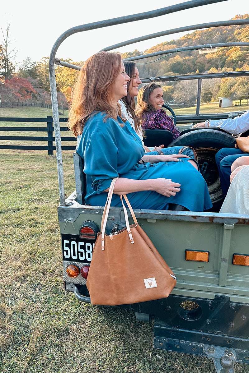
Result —
<instances>
[{"instance_id":1,"label":"second curved steel roof bar, between the frontmost and thinnest bars","mask_svg":"<svg viewBox=\"0 0 249 373\"><path fill-rule=\"evenodd\" d=\"M155 34L144 35L144 36L140 36L139 38L122 41L122 43L113 44L112 46L103 48L100 51L109 51L109 50L113 50L113 49L117 49L120 47L130 45L130 44L138 43L139 41L158 38L160 36L165 36L165 35L177 34L178 32L199 30L202 28L209 28L209 27L236 26L236 25L248 25L248 24L249 24L249 19L231 19L229 21L199 23L198 25L177 27L177 28L172 28L171 30L156 32Z\"/></svg>"}]
</instances>

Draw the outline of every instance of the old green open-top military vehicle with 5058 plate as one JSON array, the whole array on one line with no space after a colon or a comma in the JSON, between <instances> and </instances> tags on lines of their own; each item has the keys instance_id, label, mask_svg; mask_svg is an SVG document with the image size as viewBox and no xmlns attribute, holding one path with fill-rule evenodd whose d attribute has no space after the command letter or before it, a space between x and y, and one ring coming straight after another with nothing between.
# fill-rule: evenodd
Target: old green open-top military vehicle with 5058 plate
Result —
<instances>
[{"instance_id":1,"label":"old green open-top military vehicle with 5058 plate","mask_svg":"<svg viewBox=\"0 0 249 373\"><path fill-rule=\"evenodd\" d=\"M188 1L139 15L77 26L62 34L53 46L50 55L50 86L60 192L58 217L62 241L63 274L65 290L74 292L75 297L80 301L91 302L86 279L94 242L100 230L103 206L85 205L84 161L77 153L73 154L76 191L65 199L54 63L76 69L78 67L56 59L57 48L66 37L75 32L151 18L187 7L215 2L218 1ZM187 31L207 26L245 23L248 23L248 20L213 22L212 25L187 26L179 30ZM170 31L172 30L161 34L170 34L172 33ZM146 40L155 35L146 35L140 40ZM137 41L137 39L134 40ZM118 46L131 42L134 41L123 42ZM105 48L105 50L116 47L117 45ZM249 72L225 74L246 76ZM222 73L220 75L224 76ZM210 74L148 78L143 79L143 82L186 78L198 79L196 115L177 116L177 125L228 116L228 113L199 114L201 82L202 79L210 78ZM191 125L181 128L184 129L182 136L169 145L183 144L196 148L199 153L200 169L208 182L211 198L214 203L221 203L222 197L214 154L221 147L234 146L234 138L217 129L192 131ZM249 253L247 245L249 215L221 214L218 210L218 204L214 211L204 213L134 210L138 223L177 276L177 285L168 298L120 307L134 311L138 320L149 322L152 318L155 319L155 348L206 356L214 361L217 372L223 369L225 373L234 370L235 361L249 363ZM116 232L124 228L124 225L124 212L119 207L112 207L106 232Z\"/></svg>"}]
</instances>

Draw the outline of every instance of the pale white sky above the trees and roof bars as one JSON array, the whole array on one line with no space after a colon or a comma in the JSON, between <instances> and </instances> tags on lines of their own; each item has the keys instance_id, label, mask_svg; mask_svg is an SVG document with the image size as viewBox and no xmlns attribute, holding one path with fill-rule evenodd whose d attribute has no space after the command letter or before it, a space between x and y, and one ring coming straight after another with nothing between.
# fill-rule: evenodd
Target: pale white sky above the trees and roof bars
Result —
<instances>
[{"instance_id":1,"label":"pale white sky above the trees and roof bars","mask_svg":"<svg viewBox=\"0 0 249 373\"><path fill-rule=\"evenodd\" d=\"M56 39L67 29L84 23L102 21L135 13L178 4L181 0L12 0L2 1L0 25L5 29L6 20L11 21L12 46L18 49L16 60L26 57L38 61L49 56ZM131 22L72 35L59 47L56 56L74 61L85 60L93 53L111 44L167 29L197 23L226 21L236 14L249 12L248 0L228 0L209 4L150 20ZM193 31L190 31L193 32ZM119 51L145 50L158 43L177 39L185 33L143 41L119 48ZM2 35L0 34L0 43Z\"/></svg>"}]
</instances>

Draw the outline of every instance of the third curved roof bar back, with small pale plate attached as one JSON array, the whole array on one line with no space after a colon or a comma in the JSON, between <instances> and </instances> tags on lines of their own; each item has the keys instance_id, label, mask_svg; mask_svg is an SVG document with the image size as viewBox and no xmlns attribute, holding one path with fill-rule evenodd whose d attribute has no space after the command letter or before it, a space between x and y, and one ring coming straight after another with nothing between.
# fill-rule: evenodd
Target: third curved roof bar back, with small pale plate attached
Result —
<instances>
[{"instance_id":1,"label":"third curved roof bar back, with small pale plate attached","mask_svg":"<svg viewBox=\"0 0 249 373\"><path fill-rule=\"evenodd\" d=\"M174 53L174 52L184 52L186 50L198 50L198 49L210 48L210 47L221 48L221 47L248 47L248 46L249 46L248 42L202 44L200 46L189 46L189 47L174 48L174 49L168 49L168 50L160 50L160 51L154 52L154 53L143 54L142 56L125 58L123 61L141 60L141 59L144 59L144 58L160 56L162 54L170 54L170 53Z\"/></svg>"}]
</instances>

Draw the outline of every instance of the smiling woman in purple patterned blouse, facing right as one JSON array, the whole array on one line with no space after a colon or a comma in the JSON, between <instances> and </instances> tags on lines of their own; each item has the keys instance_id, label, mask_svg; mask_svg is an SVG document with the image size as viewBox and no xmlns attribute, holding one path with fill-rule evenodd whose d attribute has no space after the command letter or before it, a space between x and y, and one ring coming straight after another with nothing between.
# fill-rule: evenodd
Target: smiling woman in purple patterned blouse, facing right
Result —
<instances>
[{"instance_id":1,"label":"smiling woman in purple patterned blouse, facing right","mask_svg":"<svg viewBox=\"0 0 249 373\"><path fill-rule=\"evenodd\" d=\"M180 136L173 120L162 109L163 91L160 84L148 83L138 92L136 114L142 129L167 129L172 132L173 140Z\"/></svg>"}]
</instances>

